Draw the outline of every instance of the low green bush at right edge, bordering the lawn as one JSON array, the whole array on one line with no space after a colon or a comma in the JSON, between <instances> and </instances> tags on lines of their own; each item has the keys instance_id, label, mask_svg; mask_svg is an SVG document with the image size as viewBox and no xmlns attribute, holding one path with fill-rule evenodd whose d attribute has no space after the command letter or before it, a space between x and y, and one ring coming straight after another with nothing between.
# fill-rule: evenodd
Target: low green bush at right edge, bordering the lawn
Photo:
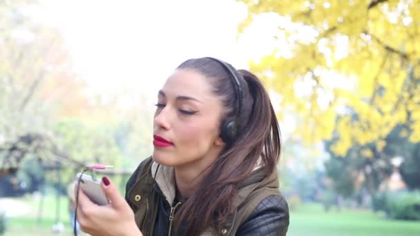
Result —
<instances>
[{"instance_id":1,"label":"low green bush at right edge, bordering the lawn","mask_svg":"<svg viewBox=\"0 0 420 236\"><path fill-rule=\"evenodd\" d=\"M372 209L384 211L392 219L420 221L420 191L376 193L372 198Z\"/></svg>"}]
</instances>

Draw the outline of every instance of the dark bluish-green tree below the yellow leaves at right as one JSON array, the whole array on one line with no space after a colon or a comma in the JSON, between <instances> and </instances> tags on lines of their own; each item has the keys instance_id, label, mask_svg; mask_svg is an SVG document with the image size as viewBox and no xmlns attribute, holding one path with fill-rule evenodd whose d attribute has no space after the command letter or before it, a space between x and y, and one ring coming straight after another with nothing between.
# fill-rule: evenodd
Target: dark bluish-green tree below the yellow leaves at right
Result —
<instances>
[{"instance_id":1,"label":"dark bluish-green tree below the yellow leaves at right","mask_svg":"<svg viewBox=\"0 0 420 236\"><path fill-rule=\"evenodd\" d=\"M399 125L385 137L386 144L381 152L374 143L354 144L342 158L331 150L334 141L327 142L326 149L332 158L325 161L325 169L336 193L354 197L365 191L373 196L397 167L408 188L419 188L420 144L412 144L407 137L401 137L403 128ZM401 158L401 166L392 164L396 157Z\"/></svg>"}]
</instances>

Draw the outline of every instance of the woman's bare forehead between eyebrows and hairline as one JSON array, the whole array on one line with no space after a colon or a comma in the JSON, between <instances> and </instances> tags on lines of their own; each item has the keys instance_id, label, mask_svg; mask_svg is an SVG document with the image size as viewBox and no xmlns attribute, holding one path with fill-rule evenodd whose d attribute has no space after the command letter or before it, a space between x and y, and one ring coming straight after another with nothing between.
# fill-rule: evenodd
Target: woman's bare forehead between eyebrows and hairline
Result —
<instances>
[{"instance_id":1,"label":"woman's bare forehead between eyebrows and hairline","mask_svg":"<svg viewBox=\"0 0 420 236\"><path fill-rule=\"evenodd\" d=\"M209 79L191 69L178 69L166 80L165 94L188 95L195 98L213 97Z\"/></svg>"}]
</instances>

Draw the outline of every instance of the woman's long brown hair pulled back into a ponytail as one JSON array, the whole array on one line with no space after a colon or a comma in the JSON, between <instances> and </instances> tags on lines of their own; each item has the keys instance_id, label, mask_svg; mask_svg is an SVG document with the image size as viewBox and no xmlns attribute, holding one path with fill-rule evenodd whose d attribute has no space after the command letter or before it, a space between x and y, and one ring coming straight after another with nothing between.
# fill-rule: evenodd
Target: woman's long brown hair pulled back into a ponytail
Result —
<instances>
[{"instance_id":1,"label":"woman's long brown hair pulled back into a ponytail","mask_svg":"<svg viewBox=\"0 0 420 236\"><path fill-rule=\"evenodd\" d=\"M209 79L213 93L222 99L224 119L235 114L234 84L220 63L207 58L189 59L178 66L178 69L184 68L200 72ZM256 75L247 70L237 72L246 81L242 84L242 112L238 117L240 132L176 213L175 226L185 224L185 235L199 235L208 226L225 221L235 210L231 206L232 199L240 181L249 177L257 163L269 175L280 158L280 130L269 96Z\"/></svg>"}]
</instances>

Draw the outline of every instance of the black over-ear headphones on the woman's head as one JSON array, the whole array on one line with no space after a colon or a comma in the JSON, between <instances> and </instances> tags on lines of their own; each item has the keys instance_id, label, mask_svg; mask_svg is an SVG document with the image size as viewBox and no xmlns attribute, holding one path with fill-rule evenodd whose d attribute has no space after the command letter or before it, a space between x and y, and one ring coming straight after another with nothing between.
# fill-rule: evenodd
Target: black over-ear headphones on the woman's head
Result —
<instances>
[{"instance_id":1,"label":"black over-ear headphones on the woman's head","mask_svg":"<svg viewBox=\"0 0 420 236\"><path fill-rule=\"evenodd\" d=\"M230 66L225 61L221 61L219 59L213 58L213 57L206 57L208 59L212 59L213 61L217 61L220 63L220 65L225 68L227 72L231 76L231 81L233 82L233 88L235 90L236 94L236 102L237 102L237 109L235 112L235 115L233 118L227 118L225 121L222 122L221 130L220 130L220 137L226 144L231 144L236 137L236 134L238 133L238 117L240 115L240 111L242 110L242 86L240 84L240 79L242 81L244 80L240 75L238 75L238 72Z\"/></svg>"}]
</instances>

